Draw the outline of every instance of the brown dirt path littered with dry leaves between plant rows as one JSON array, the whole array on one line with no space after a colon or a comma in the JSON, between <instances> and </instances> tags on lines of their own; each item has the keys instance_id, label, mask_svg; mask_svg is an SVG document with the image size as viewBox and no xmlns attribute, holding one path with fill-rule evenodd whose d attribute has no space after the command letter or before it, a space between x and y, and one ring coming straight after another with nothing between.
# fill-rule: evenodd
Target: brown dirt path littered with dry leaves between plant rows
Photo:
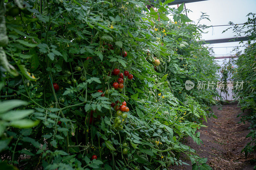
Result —
<instances>
[{"instance_id":1,"label":"brown dirt path littered with dry leaves between plant rows","mask_svg":"<svg viewBox=\"0 0 256 170\"><path fill-rule=\"evenodd\" d=\"M220 108L220 109L219 109ZM212 111L218 119L208 119L208 127L199 129L200 138L204 144L198 146L192 138L187 138L186 144L195 149L200 157L208 158L207 164L214 170L253 170L254 164L250 159L256 159L256 155L241 153L249 139L245 136L249 133L249 124L237 124L241 113L236 104L213 106ZM187 162L191 164L191 162ZM191 166L172 167L171 169L192 169Z\"/></svg>"}]
</instances>

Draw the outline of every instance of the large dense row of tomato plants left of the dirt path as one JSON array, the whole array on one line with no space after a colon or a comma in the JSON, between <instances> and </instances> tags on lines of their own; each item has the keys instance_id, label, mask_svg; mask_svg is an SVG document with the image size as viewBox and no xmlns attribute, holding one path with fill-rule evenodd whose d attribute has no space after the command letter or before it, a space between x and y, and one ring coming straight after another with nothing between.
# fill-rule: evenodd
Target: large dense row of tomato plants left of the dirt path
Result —
<instances>
[{"instance_id":1,"label":"large dense row of tomato plants left of the dirt path","mask_svg":"<svg viewBox=\"0 0 256 170\"><path fill-rule=\"evenodd\" d=\"M202 143L196 130L215 91L184 83L215 81L218 67L183 4L168 2L154 11L148 1L4 1L0 166L166 169L186 164L185 154L193 168L211 169L181 139ZM123 89L112 87L115 68ZM111 107L118 101L127 117Z\"/></svg>"}]
</instances>

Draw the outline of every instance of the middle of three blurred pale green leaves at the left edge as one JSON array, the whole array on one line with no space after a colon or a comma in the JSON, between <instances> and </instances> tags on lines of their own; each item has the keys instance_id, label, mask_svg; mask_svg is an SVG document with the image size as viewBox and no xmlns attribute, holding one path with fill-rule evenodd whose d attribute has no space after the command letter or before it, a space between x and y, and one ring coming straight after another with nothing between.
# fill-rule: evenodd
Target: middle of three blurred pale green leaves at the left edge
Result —
<instances>
[{"instance_id":1,"label":"middle of three blurred pale green leaves at the left edge","mask_svg":"<svg viewBox=\"0 0 256 170\"><path fill-rule=\"evenodd\" d=\"M0 115L0 117L3 120L6 120L6 121L13 121L13 120L18 120L18 119L27 117L28 115L30 115L33 112L34 112L34 110L32 110L32 109L29 109L29 110L12 110L12 111L9 111L5 114Z\"/></svg>"}]
</instances>

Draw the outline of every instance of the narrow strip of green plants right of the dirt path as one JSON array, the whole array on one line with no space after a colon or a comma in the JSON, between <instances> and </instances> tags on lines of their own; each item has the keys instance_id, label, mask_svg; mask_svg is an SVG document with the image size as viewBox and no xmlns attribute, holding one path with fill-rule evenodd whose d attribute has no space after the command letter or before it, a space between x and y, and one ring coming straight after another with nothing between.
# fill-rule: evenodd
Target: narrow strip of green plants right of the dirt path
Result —
<instances>
[{"instance_id":1,"label":"narrow strip of green plants right of the dirt path","mask_svg":"<svg viewBox=\"0 0 256 170\"><path fill-rule=\"evenodd\" d=\"M245 34L249 41L244 44L246 47L244 53L238 53L238 59L233 61L236 67L232 68L232 80L234 82L244 81L243 89L233 90L241 109L248 111L248 114L241 117L241 122L249 121L251 123L251 132L246 137L252 139L242 150L246 156L248 153L256 151L256 43L253 43L256 39L256 18L255 14L252 13L247 16L248 21L243 26L233 28L237 35Z\"/></svg>"}]
</instances>

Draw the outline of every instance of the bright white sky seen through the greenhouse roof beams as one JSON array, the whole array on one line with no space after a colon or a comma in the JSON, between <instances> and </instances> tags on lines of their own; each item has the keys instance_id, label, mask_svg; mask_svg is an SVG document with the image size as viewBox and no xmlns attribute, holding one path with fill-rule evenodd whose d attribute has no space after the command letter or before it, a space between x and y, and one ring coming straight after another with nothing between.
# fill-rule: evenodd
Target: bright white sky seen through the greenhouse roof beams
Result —
<instances>
[{"instance_id":1,"label":"bright white sky seen through the greenhouse roof beams","mask_svg":"<svg viewBox=\"0 0 256 170\"><path fill-rule=\"evenodd\" d=\"M197 23L197 19L200 18L201 12L209 15L209 20L202 20L200 24L207 26L211 25L228 25L229 21L235 24L243 24L247 21L246 15L250 12L256 13L256 0L207 0L200 2L187 3L186 9L191 10L188 12L188 18ZM171 7L177 8L177 5L171 5ZM202 38L205 40L211 39L224 39L234 37L232 30L222 33L230 26L211 27L207 30L208 33L203 33ZM208 46L208 45L207 45ZM217 43L209 45L211 47L226 47L226 46L239 46L239 42ZM232 47L228 48L213 48L216 56L234 55L236 52L231 52ZM244 48L240 48L240 51ZM218 64L222 64L224 59L219 59Z\"/></svg>"}]
</instances>

